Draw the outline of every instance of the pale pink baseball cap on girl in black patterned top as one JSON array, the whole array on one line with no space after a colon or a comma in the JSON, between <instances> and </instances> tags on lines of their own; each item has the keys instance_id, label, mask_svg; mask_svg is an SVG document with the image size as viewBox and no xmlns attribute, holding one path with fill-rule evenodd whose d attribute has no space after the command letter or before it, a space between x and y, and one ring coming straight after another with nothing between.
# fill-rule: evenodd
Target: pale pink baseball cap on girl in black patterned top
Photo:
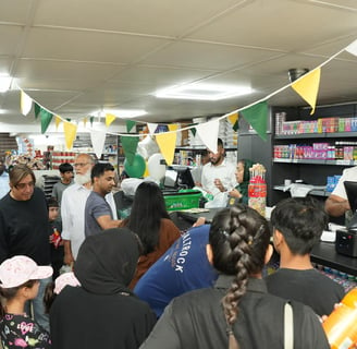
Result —
<instances>
[{"instance_id":1,"label":"pale pink baseball cap on girl in black patterned top","mask_svg":"<svg viewBox=\"0 0 357 349\"><path fill-rule=\"evenodd\" d=\"M15 255L0 265L0 286L2 288L17 287L28 280L39 280L50 277L51 266L39 266L25 255Z\"/></svg>"}]
</instances>

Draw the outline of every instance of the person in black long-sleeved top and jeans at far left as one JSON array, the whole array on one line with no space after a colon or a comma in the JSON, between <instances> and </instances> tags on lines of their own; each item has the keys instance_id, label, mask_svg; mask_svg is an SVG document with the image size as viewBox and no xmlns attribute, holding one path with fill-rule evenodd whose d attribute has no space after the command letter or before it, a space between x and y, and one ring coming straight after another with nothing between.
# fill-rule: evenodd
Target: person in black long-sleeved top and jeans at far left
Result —
<instances>
[{"instance_id":1,"label":"person in black long-sleeved top and jeans at far left","mask_svg":"<svg viewBox=\"0 0 357 349\"><path fill-rule=\"evenodd\" d=\"M15 165L9 180L10 192L0 200L0 263L14 255L26 255L38 265L50 265L45 193L35 186L35 174L26 165ZM49 322L42 299L49 281L51 278L40 280L38 296L32 301L35 320L47 330Z\"/></svg>"}]
</instances>

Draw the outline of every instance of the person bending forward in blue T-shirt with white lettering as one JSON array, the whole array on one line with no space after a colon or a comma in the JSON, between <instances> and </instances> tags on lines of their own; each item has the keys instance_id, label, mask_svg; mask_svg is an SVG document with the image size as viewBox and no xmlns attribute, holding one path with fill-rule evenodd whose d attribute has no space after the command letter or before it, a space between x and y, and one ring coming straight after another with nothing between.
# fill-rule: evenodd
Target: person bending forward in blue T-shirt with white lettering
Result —
<instances>
[{"instance_id":1,"label":"person bending forward in blue T-shirt with white lettering","mask_svg":"<svg viewBox=\"0 0 357 349\"><path fill-rule=\"evenodd\" d=\"M187 291L212 287L218 274L208 262L209 225L189 229L146 272L134 293L159 317L170 301Z\"/></svg>"}]
</instances>

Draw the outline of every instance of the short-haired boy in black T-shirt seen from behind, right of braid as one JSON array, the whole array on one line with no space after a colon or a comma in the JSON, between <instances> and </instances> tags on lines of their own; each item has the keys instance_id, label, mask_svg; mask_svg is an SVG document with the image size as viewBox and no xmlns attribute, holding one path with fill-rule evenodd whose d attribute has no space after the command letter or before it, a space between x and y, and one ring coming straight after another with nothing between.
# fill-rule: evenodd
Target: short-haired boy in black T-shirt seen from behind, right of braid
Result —
<instances>
[{"instance_id":1,"label":"short-haired boy in black T-shirt seen from behind, right of braid","mask_svg":"<svg viewBox=\"0 0 357 349\"><path fill-rule=\"evenodd\" d=\"M312 246L327 226L327 214L311 197L291 197L276 205L270 220L280 268L266 278L268 291L309 305L320 316L329 315L344 289L310 261Z\"/></svg>"}]
</instances>

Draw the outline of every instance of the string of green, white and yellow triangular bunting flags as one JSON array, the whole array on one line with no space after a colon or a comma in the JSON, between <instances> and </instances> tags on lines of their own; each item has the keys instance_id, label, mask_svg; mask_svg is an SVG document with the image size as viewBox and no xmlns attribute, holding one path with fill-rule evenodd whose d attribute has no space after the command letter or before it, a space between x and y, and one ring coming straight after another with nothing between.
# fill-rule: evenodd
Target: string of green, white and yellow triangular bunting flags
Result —
<instances>
[{"instance_id":1,"label":"string of green, white and yellow triangular bunting flags","mask_svg":"<svg viewBox=\"0 0 357 349\"><path fill-rule=\"evenodd\" d=\"M262 112L263 112L263 110L266 112L267 108L266 108L266 104L263 104L263 103L267 101L268 99L270 99L271 97L273 97L274 95L286 89L287 87L292 87L297 94L299 94L311 106L311 108L312 108L311 113L313 113L315 108L316 108L319 84L320 84L321 68L327 65L331 60L333 60L334 58L336 58L338 55L341 55L344 51L347 51L354 56L357 56L357 39L354 40L348 46L346 46L345 48L343 48L342 50L340 50L338 52L336 52L335 55L331 56L328 60L325 60L320 65L315 68L311 72L297 79L295 82L290 83L279 89L274 91L270 95L268 95L259 100L256 100L256 101L251 103L250 105L244 106L244 107L233 110L229 113L225 113L225 115L219 117L217 120L220 121L223 119L229 119L233 125L233 129L236 130L238 128L238 113L242 112L243 117L245 119L247 119L248 122L253 122L250 124L255 129L255 131L257 131L259 136L264 139L266 136L263 135L263 132L264 132L266 128L264 128L263 123L266 123L267 120L263 121ZM32 105L34 104L35 119L37 119L38 116L40 115L41 132L45 133L50 121L52 120L52 117L54 113L51 112L50 110L48 110L47 108L40 106L37 101L35 101L32 97L29 97L22 88L19 87L19 89L21 91L21 101L20 103L21 103L22 113L24 116L28 115L28 112L32 108ZM257 107L250 110L250 108L253 108L255 106L257 106ZM258 110L259 115L253 116L254 110ZM236 120L233 123L232 120L234 120L235 118L236 118ZM115 119L116 119L116 116L107 115L106 116L106 125L109 127ZM266 119L268 119L268 112L266 113ZM63 121L63 129L64 129L64 133L65 133L66 144L71 145L71 147L72 147L71 140L73 137L73 134L75 135L77 127L76 127L76 124L71 123L70 122L71 120L63 119L58 115L56 116L57 127L60 123L59 120ZM89 120L90 120L90 125L93 127L94 117L90 117ZM157 129L158 129L157 123L149 123L149 122L145 122L145 121L140 121L140 122L147 124L147 127L149 129L148 134L157 135L156 134ZM206 123L209 123L209 122L211 122L211 121L207 121ZM175 130L172 130L172 128L169 125L169 131L165 131L164 133L171 134L171 133L182 132L185 130L192 130L192 132L195 133L194 130L196 129L196 131L200 134L200 137L201 139L204 137L206 140L206 135L204 134L202 130L204 129L211 130L211 124L208 124L206 127L205 127L205 123L201 123L198 125L189 124L189 125L181 128L181 129L178 129L178 128L173 128L173 129L175 129ZM107 133L109 133L109 132L107 132ZM121 133L111 133L111 134L120 135L120 136L123 135ZM132 137L137 136L136 134L124 134L124 135L132 136ZM160 133L160 135L161 135L161 133ZM212 139L214 139L214 137L212 137ZM206 140L204 143L210 144L212 142L209 140ZM211 146L213 146L213 144ZM69 148L71 148L71 147L69 147Z\"/></svg>"}]
</instances>

